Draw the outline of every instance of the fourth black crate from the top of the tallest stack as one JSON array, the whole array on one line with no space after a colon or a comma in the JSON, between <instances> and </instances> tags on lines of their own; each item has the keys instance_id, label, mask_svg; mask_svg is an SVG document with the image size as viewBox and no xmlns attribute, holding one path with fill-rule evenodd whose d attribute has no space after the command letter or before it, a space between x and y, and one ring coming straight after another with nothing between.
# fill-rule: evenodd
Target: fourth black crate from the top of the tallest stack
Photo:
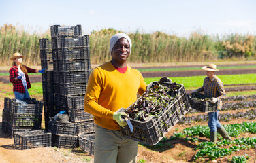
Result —
<instances>
[{"instance_id":1,"label":"fourth black crate from the top of the tallest stack","mask_svg":"<svg viewBox=\"0 0 256 163\"><path fill-rule=\"evenodd\" d=\"M84 60L57 60L53 62L54 71L59 72L76 72L88 71L91 69L90 59Z\"/></svg>"}]
</instances>

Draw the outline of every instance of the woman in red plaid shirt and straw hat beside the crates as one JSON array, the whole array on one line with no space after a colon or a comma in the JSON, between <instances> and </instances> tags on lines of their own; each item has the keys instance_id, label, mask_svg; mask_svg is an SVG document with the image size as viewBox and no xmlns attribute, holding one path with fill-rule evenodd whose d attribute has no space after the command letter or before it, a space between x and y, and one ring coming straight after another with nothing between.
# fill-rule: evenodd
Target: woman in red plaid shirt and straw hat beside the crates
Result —
<instances>
[{"instance_id":1,"label":"woman in red plaid shirt and straw hat beside the crates","mask_svg":"<svg viewBox=\"0 0 256 163\"><path fill-rule=\"evenodd\" d=\"M13 60L13 66L10 68L10 82L13 85L14 96L18 100L24 101L25 98L30 98L27 89L31 88L29 76L27 73L43 73L44 69L36 70L22 65L22 58L25 56L20 55L18 52L14 53L10 60Z\"/></svg>"}]
</instances>

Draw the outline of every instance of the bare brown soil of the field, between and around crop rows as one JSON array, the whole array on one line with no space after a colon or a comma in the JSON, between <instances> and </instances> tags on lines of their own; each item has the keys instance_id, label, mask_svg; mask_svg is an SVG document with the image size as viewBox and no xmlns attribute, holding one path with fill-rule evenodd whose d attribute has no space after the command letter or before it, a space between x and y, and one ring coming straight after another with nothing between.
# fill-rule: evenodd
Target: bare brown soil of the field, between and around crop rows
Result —
<instances>
[{"instance_id":1,"label":"bare brown soil of the field, between and around crop rows","mask_svg":"<svg viewBox=\"0 0 256 163\"><path fill-rule=\"evenodd\" d=\"M191 66L189 66L191 67ZM201 66L199 66L201 67ZM143 67L145 68L145 67ZM224 70L223 70L224 71ZM235 71L239 71L239 69L228 69L225 75L229 74L237 74ZM249 70L248 70L249 71ZM251 73L255 73L256 69L251 69ZM7 71L4 71L5 73ZM205 75L204 71L179 71L176 75L180 75L182 73L187 72L191 74L195 72L197 75ZM221 71L219 71L221 72ZM217 75L224 75L217 73ZM233 73L231 73L233 72ZM242 69L239 71L241 74L244 74L246 71ZM3 73L1 71L0 73ZM8 72L7 72L8 73ZM155 73L153 77L161 77L161 76L169 76L174 77L174 74L167 75L165 73L174 73L173 72L163 72L162 75L159 75L159 72ZM144 73L142 73L144 75ZM185 75L189 76L189 75ZM145 75L144 75L145 77ZM177 76L178 77L178 76ZM30 75L29 79L31 82L42 82L41 75ZM9 77L1 76L0 77L0 128L1 128L1 118L3 113L3 99L5 96L9 96L10 98L14 98L13 94L5 94L1 92L1 90L5 90L6 92L12 92L12 86L8 85L10 83ZM246 85L246 86L236 86L230 87L229 89L236 89L235 91L241 91L243 89L256 90L255 84ZM228 90L225 88L227 92L234 91ZM189 93L189 92L188 92ZM31 98L42 99L42 94L32 95ZM256 109L256 108L250 108ZM238 110L239 111L239 110ZM223 111L223 113L236 113L238 111ZM221 111L222 112L222 111ZM220 113L221 113L220 112ZM205 113L193 113L185 116L191 115L203 115ZM44 113L43 113L44 115ZM229 122L221 122L221 124L239 124L242 122L256 122L256 120L246 120L246 119L232 119ZM191 124L176 124L170 132L167 133L166 137L171 137L174 132L182 132L183 129L189 128L191 126L197 125L207 125L208 122L191 122ZM238 137L233 137L233 139L238 139L240 137L256 137L256 134L243 133ZM138 147L138 163L183 163L183 162L228 162L227 160L232 158L232 156L236 155L244 155L248 154L251 156L249 158L249 163L255 162L255 149L244 149L240 151L236 151L229 156L225 156L223 158L218 158L217 160L209 160L208 158L203 160L193 160L193 156L197 153L198 150L195 150L195 147L199 144L199 142L209 141L206 137L199 137L199 141L185 141L185 139L173 139L172 141L168 141L167 147L160 147L157 149L144 147L143 145L139 145ZM14 149L13 147L14 139L7 138L7 135L3 134L0 129L0 163L84 163L84 162L93 162L93 156L88 156L87 153L84 153L81 149L59 149L56 147L38 147L34 149L27 150L19 150Z\"/></svg>"}]
</instances>

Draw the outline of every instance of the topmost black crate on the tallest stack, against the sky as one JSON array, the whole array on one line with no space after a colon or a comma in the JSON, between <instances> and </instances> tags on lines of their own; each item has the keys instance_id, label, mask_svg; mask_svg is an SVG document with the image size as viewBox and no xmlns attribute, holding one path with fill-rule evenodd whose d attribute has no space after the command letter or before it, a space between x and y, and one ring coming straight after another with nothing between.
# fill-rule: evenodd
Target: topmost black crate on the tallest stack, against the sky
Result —
<instances>
[{"instance_id":1,"label":"topmost black crate on the tallest stack, against the sky","mask_svg":"<svg viewBox=\"0 0 256 163\"><path fill-rule=\"evenodd\" d=\"M52 37L57 36L80 36L82 35L82 27L81 25L76 26L60 26L60 25L53 25L50 26L50 34Z\"/></svg>"}]
</instances>

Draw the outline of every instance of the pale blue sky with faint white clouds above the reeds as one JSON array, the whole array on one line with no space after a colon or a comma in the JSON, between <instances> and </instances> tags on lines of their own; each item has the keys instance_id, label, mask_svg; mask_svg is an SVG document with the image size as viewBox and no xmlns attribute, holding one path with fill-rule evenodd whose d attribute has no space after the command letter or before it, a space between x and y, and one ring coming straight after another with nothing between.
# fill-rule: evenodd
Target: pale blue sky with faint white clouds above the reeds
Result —
<instances>
[{"instance_id":1,"label":"pale blue sky with faint white clouds above the reeds","mask_svg":"<svg viewBox=\"0 0 256 163\"><path fill-rule=\"evenodd\" d=\"M114 28L126 33L138 30L176 35L194 31L256 35L256 1L0 0L0 26L6 23L39 32L54 24L81 24L83 34Z\"/></svg>"}]
</instances>

